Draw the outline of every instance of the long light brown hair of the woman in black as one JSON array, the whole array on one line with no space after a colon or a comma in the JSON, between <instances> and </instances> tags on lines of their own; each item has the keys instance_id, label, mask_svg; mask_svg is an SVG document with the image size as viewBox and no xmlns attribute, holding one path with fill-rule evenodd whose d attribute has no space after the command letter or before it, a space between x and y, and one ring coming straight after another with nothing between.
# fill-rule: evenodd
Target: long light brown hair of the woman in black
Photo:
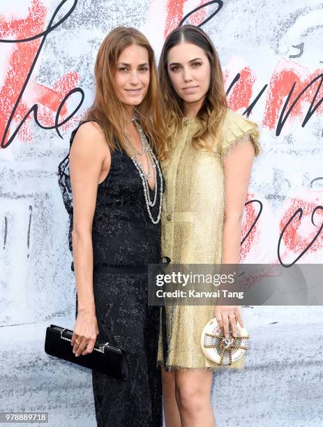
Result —
<instances>
[{"instance_id":1,"label":"long light brown hair of the woman in black","mask_svg":"<svg viewBox=\"0 0 323 427\"><path fill-rule=\"evenodd\" d=\"M117 71L118 58L126 47L142 46L148 51L150 82L147 94L140 105L135 107L137 118L148 135L151 146L159 158L165 151L165 124L163 121L163 100L158 87L158 73L153 49L149 41L137 29L117 27L105 37L98 50L94 68L96 93L93 104L84 114L84 120L96 121L103 130L111 151L116 149L114 138L130 156L128 138L124 131L127 117L126 109L117 97L114 76Z\"/></svg>"}]
</instances>

